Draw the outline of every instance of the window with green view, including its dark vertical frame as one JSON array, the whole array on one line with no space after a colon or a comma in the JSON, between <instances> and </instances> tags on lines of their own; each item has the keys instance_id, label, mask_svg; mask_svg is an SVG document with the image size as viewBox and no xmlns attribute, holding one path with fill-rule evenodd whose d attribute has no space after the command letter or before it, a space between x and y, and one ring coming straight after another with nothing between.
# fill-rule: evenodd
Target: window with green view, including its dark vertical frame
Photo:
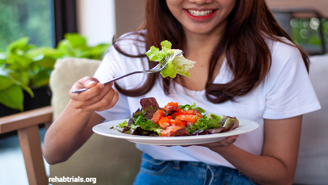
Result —
<instances>
[{"instance_id":1,"label":"window with green view, including its dark vertical frame","mask_svg":"<svg viewBox=\"0 0 328 185\"><path fill-rule=\"evenodd\" d=\"M0 50L24 36L36 46L55 47L67 32L77 32L75 0L0 2Z\"/></svg>"}]
</instances>

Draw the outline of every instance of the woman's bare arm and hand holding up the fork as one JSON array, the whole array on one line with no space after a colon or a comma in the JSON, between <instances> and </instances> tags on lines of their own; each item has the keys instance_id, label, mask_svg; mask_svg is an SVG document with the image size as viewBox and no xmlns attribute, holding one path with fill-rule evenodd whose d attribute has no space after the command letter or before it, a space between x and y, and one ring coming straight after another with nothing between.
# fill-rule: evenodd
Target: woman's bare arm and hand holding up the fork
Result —
<instances>
[{"instance_id":1,"label":"woman's bare arm and hand holding up the fork","mask_svg":"<svg viewBox=\"0 0 328 185\"><path fill-rule=\"evenodd\" d=\"M92 127L104 121L94 113L109 109L118 100L117 91L97 79L86 77L74 84L72 90L88 87L80 94L70 93L71 100L49 127L43 154L49 164L67 160L92 135Z\"/></svg>"}]
</instances>

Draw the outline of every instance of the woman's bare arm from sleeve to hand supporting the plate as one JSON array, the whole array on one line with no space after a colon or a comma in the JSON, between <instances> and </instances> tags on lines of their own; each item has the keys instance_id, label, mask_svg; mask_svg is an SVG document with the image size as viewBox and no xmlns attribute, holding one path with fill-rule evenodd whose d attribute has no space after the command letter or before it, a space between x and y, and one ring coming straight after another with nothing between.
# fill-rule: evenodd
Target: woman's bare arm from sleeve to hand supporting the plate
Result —
<instances>
[{"instance_id":1,"label":"woman's bare arm from sleeve to hand supporting the plate","mask_svg":"<svg viewBox=\"0 0 328 185\"><path fill-rule=\"evenodd\" d=\"M260 184L292 184L296 170L302 116L264 121L262 155L230 144L235 137L207 145L241 173Z\"/></svg>"}]
</instances>

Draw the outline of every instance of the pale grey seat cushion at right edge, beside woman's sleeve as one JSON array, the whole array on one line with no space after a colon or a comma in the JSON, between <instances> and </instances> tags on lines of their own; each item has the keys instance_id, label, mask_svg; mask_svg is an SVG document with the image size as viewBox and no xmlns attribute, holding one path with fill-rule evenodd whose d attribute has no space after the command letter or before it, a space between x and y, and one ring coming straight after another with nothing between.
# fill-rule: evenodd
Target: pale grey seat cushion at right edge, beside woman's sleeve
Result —
<instances>
[{"instance_id":1,"label":"pale grey seat cushion at right edge, beside woman's sleeve","mask_svg":"<svg viewBox=\"0 0 328 185\"><path fill-rule=\"evenodd\" d=\"M310 58L310 79L321 109L303 116L295 183L328 183L328 55Z\"/></svg>"}]
</instances>

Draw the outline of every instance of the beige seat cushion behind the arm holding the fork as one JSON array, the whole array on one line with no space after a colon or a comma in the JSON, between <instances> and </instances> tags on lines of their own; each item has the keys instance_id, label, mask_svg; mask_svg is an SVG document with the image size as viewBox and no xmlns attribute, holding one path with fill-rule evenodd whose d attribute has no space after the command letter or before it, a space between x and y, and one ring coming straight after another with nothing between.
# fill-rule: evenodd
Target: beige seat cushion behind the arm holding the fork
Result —
<instances>
[{"instance_id":1,"label":"beige seat cushion behind the arm holding the fork","mask_svg":"<svg viewBox=\"0 0 328 185\"><path fill-rule=\"evenodd\" d=\"M54 118L69 102L72 85L85 76L93 76L100 61L66 58L55 63L51 73L50 88ZM68 123L69 124L69 123ZM50 177L96 178L96 184L132 184L141 161L141 152L135 144L98 134L91 138L67 161L51 165ZM65 182L52 182L63 184ZM69 184L91 184L92 182L69 182Z\"/></svg>"}]
</instances>

